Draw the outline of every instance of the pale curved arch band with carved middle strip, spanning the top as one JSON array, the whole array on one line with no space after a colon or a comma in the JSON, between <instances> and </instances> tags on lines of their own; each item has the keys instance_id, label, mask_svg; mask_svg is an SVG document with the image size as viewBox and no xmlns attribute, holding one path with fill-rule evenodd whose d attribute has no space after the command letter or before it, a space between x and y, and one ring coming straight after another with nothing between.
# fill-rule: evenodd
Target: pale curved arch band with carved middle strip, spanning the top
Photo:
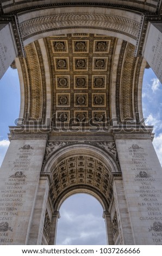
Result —
<instances>
[{"instance_id":1,"label":"pale curved arch band with carved middle strip, spanning the top","mask_svg":"<svg viewBox=\"0 0 162 256\"><path fill-rule=\"evenodd\" d=\"M136 45L140 21L139 13L88 6L39 9L18 15L25 46L50 35L90 32L115 36Z\"/></svg>"}]
</instances>

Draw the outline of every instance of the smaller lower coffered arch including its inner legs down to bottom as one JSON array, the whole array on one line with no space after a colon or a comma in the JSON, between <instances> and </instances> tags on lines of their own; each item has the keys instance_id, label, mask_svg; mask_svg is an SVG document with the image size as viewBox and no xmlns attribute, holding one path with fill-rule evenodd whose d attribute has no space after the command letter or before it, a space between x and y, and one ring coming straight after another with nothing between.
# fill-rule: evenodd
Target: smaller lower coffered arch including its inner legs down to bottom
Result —
<instances>
[{"instance_id":1,"label":"smaller lower coffered arch including its inner legs down to bottom","mask_svg":"<svg viewBox=\"0 0 162 256\"><path fill-rule=\"evenodd\" d=\"M64 145L49 154L42 168L41 176L51 176L49 198L53 205L53 217L50 244L55 241L61 204L76 193L88 193L101 203L107 239L110 244L114 243L110 211L114 216L115 206L112 206L113 174L121 175L117 165L112 153L91 143Z\"/></svg>"}]
</instances>

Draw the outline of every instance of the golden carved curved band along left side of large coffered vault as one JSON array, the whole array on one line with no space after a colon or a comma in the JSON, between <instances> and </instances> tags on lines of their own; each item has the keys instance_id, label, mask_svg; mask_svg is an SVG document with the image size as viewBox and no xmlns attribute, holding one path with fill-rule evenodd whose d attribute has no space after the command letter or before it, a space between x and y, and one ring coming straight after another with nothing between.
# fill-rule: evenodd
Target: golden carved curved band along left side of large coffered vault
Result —
<instances>
[{"instance_id":1,"label":"golden carved curved band along left side of large coffered vault","mask_svg":"<svg viewBox=\"0 0 162 256\"><path fill-rule=\"evenodd\" d=\"M35 41L33 44L26 46L26 54L27 74L26 71L23 70L23 80L25 86L29 83L29 113L31 118L37 120L42 118L44 123L46 116L46 77L39 42ZM29 118L29 120L31 118Z\"/></svg>"}]
</instances>

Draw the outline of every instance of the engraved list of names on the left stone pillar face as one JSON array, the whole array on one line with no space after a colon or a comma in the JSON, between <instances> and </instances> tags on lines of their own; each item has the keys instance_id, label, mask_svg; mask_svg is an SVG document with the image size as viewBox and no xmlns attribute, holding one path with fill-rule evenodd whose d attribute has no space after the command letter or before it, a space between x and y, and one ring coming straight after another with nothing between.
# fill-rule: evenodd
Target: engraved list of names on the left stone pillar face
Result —
<instances>
[{"instance_id":1,"label":"engraved list of names on the left stone pillar face","mask_svg":"<svg viewBox=\"0 0 162 256\"><path fill-rule=\"evenodd\" d=\"M29 169L30 158L33 155L33 147L29 144L20 147L13 162L13 168L9 178L5 180L0 193L0 244L11 244L14 236L10 231L10 222L14 222L22 211L25 203L24 194L27 191L28 182L25 172ZM13 174L12 174L13 171Z\"/></svg>"}]
</instances>

